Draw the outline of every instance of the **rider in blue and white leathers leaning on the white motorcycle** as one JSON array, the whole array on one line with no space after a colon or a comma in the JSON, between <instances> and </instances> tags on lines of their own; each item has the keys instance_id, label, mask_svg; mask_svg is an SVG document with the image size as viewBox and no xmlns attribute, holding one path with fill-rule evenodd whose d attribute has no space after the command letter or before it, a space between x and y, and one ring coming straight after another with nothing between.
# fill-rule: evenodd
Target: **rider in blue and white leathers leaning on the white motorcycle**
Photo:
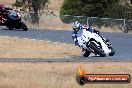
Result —
<instances>
[{"instance_id":1,"label":"rider in blue and white leathers leaning on the white motorcycle","mask_svg":"<svg viewBox=\"0 0 132 88\"><path fill-rule=\"evenodd\" d=\"M105 38L103 38L103 36L101 36L100 32L95 30L94 28L91 27L91 25L87 26L87 25L82 25L80 24L78 21L73 22L72 24L72 28L73 28L73 32L72 32L72 38L74 41L74 44L76 46L79 46L82 48L82 54L84 55L85 52L87 51L86 47L80 46L77 40L77 37L79 37L82 33L82 31L85 29L87 31L90 31L92 33L97 33L103 40L106 40ZM108 41L108 40L107 40ZM88 52L88 51L87 51Z\"/></svg>"}]
</instances>

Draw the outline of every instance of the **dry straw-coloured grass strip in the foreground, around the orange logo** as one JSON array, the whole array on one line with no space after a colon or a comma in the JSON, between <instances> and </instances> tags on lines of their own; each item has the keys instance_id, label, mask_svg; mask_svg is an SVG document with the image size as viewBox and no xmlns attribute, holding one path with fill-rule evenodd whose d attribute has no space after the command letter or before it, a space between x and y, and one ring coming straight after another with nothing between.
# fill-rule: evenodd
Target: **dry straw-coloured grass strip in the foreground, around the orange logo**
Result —
<instances>
[{"instance_id":1,"label":"dry straw-coloured grass strip in the foreground, around the orange logo","mask_svg":"<svg viewBox=\"0 0 132 88\"><path fill-rule=\"evenodd\" d=\"M0 88L131 88L132 84L86 84L76 82L82 64L89 74L130 74L131 62L0 63Z\"/></svg>"}]
</instances>

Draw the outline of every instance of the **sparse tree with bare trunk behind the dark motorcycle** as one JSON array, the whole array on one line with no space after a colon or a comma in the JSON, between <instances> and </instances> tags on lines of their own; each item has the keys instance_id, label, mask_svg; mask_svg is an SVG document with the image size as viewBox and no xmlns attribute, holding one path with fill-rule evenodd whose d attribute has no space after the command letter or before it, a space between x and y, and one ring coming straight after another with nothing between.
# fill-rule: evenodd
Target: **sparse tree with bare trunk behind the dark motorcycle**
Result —
<instances>
[{"instance_id":1,"label":"sparse tree with bare trunk behind the dark motorcycle","mask_svg":"<svg viewBox=\"0 0 132 88\"><path fill-rule=\"evenodd\" d=\"M16 0L15 6L24 7L24 9L28 9L29 11L33 11L34 13L30 14L32 18L32 23L39 23L39 15L41 9L43 9L48 0Z\"/></svg>"}]
</instances>

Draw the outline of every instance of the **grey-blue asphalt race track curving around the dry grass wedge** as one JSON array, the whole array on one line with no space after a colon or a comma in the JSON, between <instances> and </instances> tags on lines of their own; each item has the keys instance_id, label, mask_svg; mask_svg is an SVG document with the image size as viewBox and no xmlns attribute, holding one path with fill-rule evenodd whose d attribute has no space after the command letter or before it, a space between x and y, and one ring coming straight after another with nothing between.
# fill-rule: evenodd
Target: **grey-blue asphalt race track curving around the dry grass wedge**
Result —
<instances>
[{"instance_id":1,"label":"grey-blue asphalt race track curving around the dry grass wedge","mask_svg":"<svg viewBox=\"0 0 132 88\"><path fill-rule=\"evenodd\" d=\"M91 56L84 58L71 56L65 58L0 58L1 62L80 62L80 61L132 61L132 34L127 33L101 33L105 38L110 39L110 43L116 51L114 56L97 57ZM2 28L0 36L10 36L19 38L30 38L37 40L48 40L52 42L73 44L71 31L48 30L48 29L29 29L28 31L8 30Z\"/></svg>"}]
</instances>

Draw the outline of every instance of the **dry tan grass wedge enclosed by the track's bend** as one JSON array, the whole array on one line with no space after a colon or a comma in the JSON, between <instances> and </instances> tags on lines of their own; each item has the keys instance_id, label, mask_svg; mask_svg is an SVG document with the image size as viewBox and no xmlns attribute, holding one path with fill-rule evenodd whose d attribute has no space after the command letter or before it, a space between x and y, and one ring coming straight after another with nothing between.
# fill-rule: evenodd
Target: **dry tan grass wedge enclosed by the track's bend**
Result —
<instances>
[{"instance_id":1,"label":"dry tan grass wedge enclosed by the track's bend","mask_svg":"<svg viewBox=\"0 0 132 88\"><path fill-rule=\"evenodd\" d=\"M59 58L80 55L72 44L0 37L0 58Z\"/></svg>"}]
</instances>

